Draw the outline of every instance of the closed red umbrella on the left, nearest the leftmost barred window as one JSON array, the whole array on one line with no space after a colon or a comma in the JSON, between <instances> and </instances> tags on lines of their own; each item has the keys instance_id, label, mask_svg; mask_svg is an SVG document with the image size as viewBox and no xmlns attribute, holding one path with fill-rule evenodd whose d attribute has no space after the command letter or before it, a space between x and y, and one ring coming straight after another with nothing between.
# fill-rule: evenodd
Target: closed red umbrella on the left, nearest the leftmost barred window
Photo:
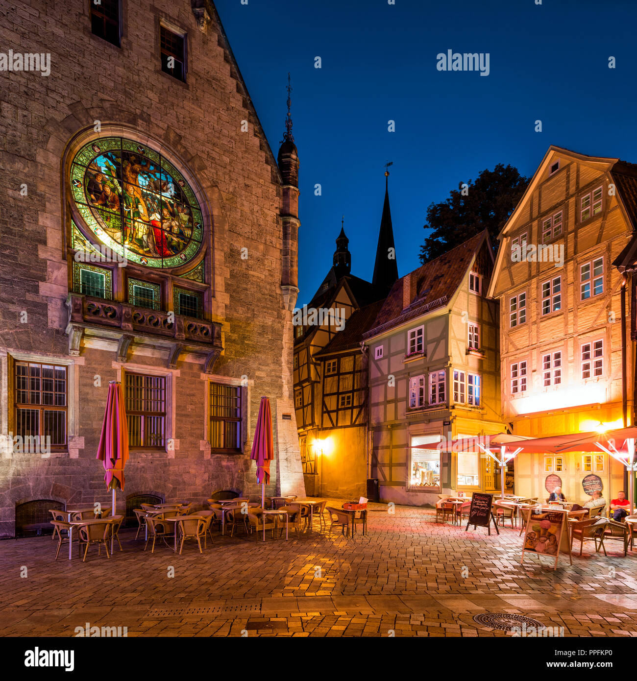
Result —
<instances>
[{"instance_id":1,"label":"closed red umbrella on the left, nearest the leftmost barred window","mask_svg":"<svg viewBox=\"0 0 637 681\"><path fill-rule=\"evenodd\" d=\"M121 383L110 381L97 459L104 464L106 489L112 490L112 515L115 515L115 490L124 488L124 466L128 460L128 424ZM110 550L112 552L112 537Z\"/></svg>"}]
</instances>

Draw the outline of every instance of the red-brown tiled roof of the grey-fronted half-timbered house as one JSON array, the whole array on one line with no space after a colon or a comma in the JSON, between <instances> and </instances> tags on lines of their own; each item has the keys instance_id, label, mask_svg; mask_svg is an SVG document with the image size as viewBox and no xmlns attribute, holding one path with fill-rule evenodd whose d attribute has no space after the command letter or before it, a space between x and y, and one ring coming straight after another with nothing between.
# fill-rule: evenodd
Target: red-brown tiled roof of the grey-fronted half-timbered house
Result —
<instances>
[{"instance_id":1,"label":"red-brown tiled roof of the grey-fronted half-timbered house","mask_svg":"<svg viewBox=\"0 0 637 681\"><path fill-rule=\"evenodd\" d=\"M446 304L459 287L467 273L471 258L485 236L484 232L480 232L463 244L443 253L443 255L439 255L411 272L411 276L415 277L418 282L418 292L416 299L407 310L403 309L403 280L405 277L401 277L392 286L389 296L373 323L373 328L366 335L371 335L380 326L397 321L399 317L403 317L403 313L413 312L416 315L420 308L436 301L440 301L440 304Z\"/></svg>"}]
</instances>

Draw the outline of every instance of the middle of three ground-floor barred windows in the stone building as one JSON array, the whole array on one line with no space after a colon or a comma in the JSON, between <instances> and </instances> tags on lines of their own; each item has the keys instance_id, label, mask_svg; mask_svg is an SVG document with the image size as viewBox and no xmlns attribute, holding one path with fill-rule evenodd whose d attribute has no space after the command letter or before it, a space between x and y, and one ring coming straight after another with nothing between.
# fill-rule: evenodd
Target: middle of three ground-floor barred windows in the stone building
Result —
<instances>
[{"instance_id":1,"label":"middle of three ground-floor barred windows in the stone building","mask_svg":"<svg viewBox=\"0 0 637 681\"><path fill-rule=\"evenodd\" d=\"M125 373L126 419L130 447L166 444L166 377Z\"/></svg>"}]
</instances>

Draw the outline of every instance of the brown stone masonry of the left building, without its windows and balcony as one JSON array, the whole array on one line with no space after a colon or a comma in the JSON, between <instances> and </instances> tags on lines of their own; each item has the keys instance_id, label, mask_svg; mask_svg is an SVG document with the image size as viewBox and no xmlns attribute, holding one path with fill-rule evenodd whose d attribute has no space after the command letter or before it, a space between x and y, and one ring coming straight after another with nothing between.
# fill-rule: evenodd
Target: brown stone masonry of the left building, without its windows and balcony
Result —
<instances>
[{"instance_id":1,"label":"brown stone masonry of the left building, without its windows and balcony","mask_svg":"<svg viewBox=\"0 0 637 681\"><path fill-rule=\"evenodd\" d=\"M209 377L200 358L182 356L172 372L174 451L131 452L125 495L155 490L169 499L203 501L215 488L257 492L249 450L262 395L270 397L279 457L270 490L304 493L296 428L288 427L294 421L282 419L294 414L292 323L280 286L282 181L217 14L211 8L202 31L189 0L125 2L116 48L92 35L88 12L83 0L0 8L2 50L50 53L51 63L49 76L0 72L0 535L13 533L16 503L109 498L95 450L108 381L121 373L116 343L84 337L72 358L65 335L69 221L61 166L71 140L95 121L156 140L196 177L210 215L213 257L206 277L224 347L212 371L225 379L245 377L249 400L244 454L211 456ZM187 32L186 83L161 72L160 19ZM10 451L7 357L15 355L71 362L76 394L69 419L75 427L68 452L42 458ZM128 362L166 367L164 355L136 343Z\"/></svg>"}]
</instances>

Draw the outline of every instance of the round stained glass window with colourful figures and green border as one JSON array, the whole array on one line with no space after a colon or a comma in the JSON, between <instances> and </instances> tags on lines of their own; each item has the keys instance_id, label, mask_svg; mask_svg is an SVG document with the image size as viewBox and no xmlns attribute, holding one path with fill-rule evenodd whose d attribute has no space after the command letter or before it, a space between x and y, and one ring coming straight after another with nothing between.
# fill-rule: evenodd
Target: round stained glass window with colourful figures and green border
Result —
<instances>
[{"instance_id":1,"label":"round stained glass window with colourful figures and green border","mask_svg":"<svg viewBox=\"0 0 637 681\"><path fill-rule=\"evenodd\" d=\"M71 191L91 240L131 262L179 267L201 248L194 192L170 161L139 142L108 137L82 146Z\"/></svg>"}]
</instances>

